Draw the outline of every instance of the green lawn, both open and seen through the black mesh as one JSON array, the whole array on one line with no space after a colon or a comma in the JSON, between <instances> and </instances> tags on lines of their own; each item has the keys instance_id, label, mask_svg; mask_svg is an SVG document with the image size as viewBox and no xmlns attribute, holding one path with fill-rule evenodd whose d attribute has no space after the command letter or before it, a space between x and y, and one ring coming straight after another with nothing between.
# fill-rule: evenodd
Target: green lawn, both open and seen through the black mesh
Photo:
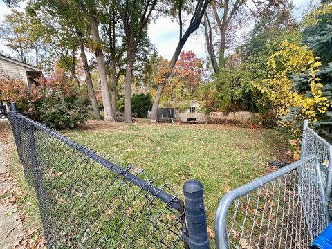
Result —
<instances>
[{"instance_id":1,"label":"green lawn, both open and seen through the black mesh","mask_svg":"<svg viewBox=\"0 0 332 249\"><path fill-rule=\"evenodd\" d=\"M81 129L62 133L98 151L100 155L106 153L114 156L112 160L120 160L123 166L133 165L145 169L145 174L154 178L157 186L166 184L181 198L185 181L190 178L201 181L205 188L208 225L212 228L216 207L223 194L264 175L268 160L277 159L283 149L276 131L221 125L153 125L146 120L139 120L137 124L89 122ZM60 145L57 140L49 140L46 133L37 132L37 137L37 160L41 168L45 194L43 205L47 209L49 229L66 228L63 232L71 234L73 245L90 235L93 238L89 241L91 245L97 245L100 241L118 245L122 243L122 238L118 232L114 232L114 228L121 230L120 227L124 226L127 227L124 229L127 230L127 239L139 235L136 246L144 248L146 236L154 230L151 226L154 223L145 222L145 212L149 213L149 219L158 220L157 209L163 208L162 203L156 203L157 209L151 212L149 208L138 212L145 205L144 195L140 193L135 202L130 201L138 188L135 191L125 189L121 178L114 181L114 174L106 168L93 164L92 160L86 161L86 158L75 156L77 151L68 145ZM52 143L49 144L49 141ZM16 154L12 156L12 165L19 165ZM137 170L133 169L133 172ZM17 174L23 182L22 187L28 193L33 193L33 189L24 183L22 172ZM112 185L109 185L111 182ZM112 205L108 205L110 200ZM35 197L28 194L24 203L27 204L24 208L32 220L40 225ZM127 212L127 205L130 205L135 216L123 216ZM166 217L164 215L161 219L165 223L172 223ZM130 220L129 225L126 222ZM93 223L86 223L90 221ZM145 225L149 226L145 228ZM163 230L167 228L160 227L158 231ZM53 239L58 234L50 233ZM154 234L156 240L159 236ZM174 237L167 239L172 243ZM61 242L64 238L60 236L58 240ZM66 246L70 247L68 244ZM212 248L214 246L212 241Z\"/></svg>"}]
</instances>

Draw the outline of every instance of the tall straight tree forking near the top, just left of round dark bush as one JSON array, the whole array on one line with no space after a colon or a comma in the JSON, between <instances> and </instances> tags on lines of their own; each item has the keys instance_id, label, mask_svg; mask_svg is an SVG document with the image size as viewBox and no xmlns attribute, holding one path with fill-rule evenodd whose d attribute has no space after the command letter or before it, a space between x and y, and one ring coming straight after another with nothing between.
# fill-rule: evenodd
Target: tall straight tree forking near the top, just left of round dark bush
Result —
<instances>
[{"instance_id":1,"label":"tall straight tree forking near the top, just left of round dark bush","mask_svg":"<svg viewBox=\"0 0 332 249\"><path fill-rule=\"evenodd\" d=\"M131 86L133 82L133 65L138 44L147 35L147 24L158 0L117 0L126 41L126 79L124 96L124 121L132 122Z\"/></svg>"}]
</instances>

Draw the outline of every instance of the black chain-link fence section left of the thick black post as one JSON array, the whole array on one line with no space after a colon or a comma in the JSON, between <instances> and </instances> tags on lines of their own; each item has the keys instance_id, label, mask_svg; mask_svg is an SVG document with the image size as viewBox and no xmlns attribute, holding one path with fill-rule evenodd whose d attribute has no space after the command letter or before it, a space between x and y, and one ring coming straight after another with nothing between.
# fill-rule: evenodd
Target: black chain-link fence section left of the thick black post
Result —
<instances>
[{"instance_id":1,"label":"black chain-link fence section left of the thick black post","mask_svg":"<svg viewBox=\"0 0 332 249\"><path fill-rule=\"evenodd\" d=\"M183 248L182 201L19 113L8 115L48 248Z\"/></svg>"}]
</instances>

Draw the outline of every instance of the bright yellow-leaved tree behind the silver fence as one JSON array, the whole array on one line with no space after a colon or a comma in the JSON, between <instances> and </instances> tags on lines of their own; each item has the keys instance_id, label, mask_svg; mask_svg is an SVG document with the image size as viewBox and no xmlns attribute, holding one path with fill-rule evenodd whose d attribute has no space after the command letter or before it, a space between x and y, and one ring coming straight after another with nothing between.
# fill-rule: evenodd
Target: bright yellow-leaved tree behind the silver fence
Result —
<instances>
[{"instance_id":1,"label":"bright yellow-leaved tree behind the silver fence","mask_svg":"<svg viewBox=\"0 0 332 249\"><path fill-rule=\"evenodd\" d=\"M295 151L295 159L299 154L299 136L302 120L308 118L311 122L317 121L317 116L325 113L331 102L324 97L323 84L317 77L321 63L307 46L282 42L279 50L268 60L268 77L256 83L262 93L266 93L273 104L273 109L280 117L297 109L296 118L282 119L279 125L291 130L291 146ZM304 74L308 79L306 92L299 92L293 84L294 75Z\"/></svg>"}]
</instances>

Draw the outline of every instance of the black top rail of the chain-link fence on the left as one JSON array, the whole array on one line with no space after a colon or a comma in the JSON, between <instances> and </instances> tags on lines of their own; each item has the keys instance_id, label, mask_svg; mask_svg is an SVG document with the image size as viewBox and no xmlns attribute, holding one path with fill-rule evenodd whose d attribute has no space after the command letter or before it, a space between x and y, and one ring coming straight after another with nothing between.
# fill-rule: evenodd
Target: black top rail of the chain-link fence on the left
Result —
<instances>
[{"instance_id":1,"label":"black top rail of the chain-link fence on the left","mask_svg":"<svg viewBox=\"0 0 332 249\"><path fill-rule=\"evenodd\" d=\"M153 181L142 180L137 175L131 174L130 172L128 172L126 169L124 169L120 165L117 165L116 163L111 163L111 162L109 162L109 160L106 160L102 156L99 156L97 153L95 153L95 151L92 151L88 147L84 147L83 145L80 145L77 142L74 142L73 140L66 138L66 136L62 135L61 133L59 133L53 129L50 129L49 127L46 127L44 124L41 124L30 118L27 118L26 116L23 116L20 113L17 113L15 111L9 111L9 116L15 116L15 118L19 117L19 118L25 120L26 122L28 122L29 124L33 124L33 126L36 127L37 129L45 131L46 133L49 133L50 136L53 136L57 140L64 142L66 145L72 147L73 149L80 151L85 156L88 156L89 158L92 158L95 162L100 163L100 165L107 167L107 169L115 172L116 174L119 174L127 181L142 188L142 190L145 190L145 191L149 192L150 194L156 196L156 198L158 198L158 199L160 199L160 201L163 201L164 203L166 203L169 207L174 208L177 211L181 211L178 197L172 196L172 194L169 194L169 193L163 191L159 187L156 187L153 184Z\"/></svg>"}]
</instances>

